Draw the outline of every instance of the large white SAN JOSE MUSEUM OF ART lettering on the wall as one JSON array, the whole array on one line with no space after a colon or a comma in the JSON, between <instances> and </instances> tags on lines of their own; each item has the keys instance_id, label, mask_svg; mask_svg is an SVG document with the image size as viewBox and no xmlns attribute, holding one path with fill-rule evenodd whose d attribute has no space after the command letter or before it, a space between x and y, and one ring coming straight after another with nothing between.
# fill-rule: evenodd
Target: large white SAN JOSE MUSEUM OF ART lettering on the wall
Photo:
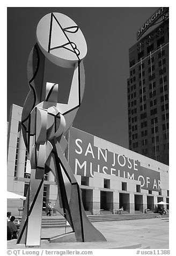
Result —
<instances>
[{"instance_id":1,"label":"large white SAN JOSE MUSEUM OF ART lettering on the wall","mask_svg":"<svg viewBox=\"0 0 176 256\"><path fill-rule=\"evenodd\" d=\"M93 177L94 172L141 181L143 189L160 191L160 174L140 162L94 146L93 135L70 129L69 165L75 174Z\"/></svg>"}]
</instances>

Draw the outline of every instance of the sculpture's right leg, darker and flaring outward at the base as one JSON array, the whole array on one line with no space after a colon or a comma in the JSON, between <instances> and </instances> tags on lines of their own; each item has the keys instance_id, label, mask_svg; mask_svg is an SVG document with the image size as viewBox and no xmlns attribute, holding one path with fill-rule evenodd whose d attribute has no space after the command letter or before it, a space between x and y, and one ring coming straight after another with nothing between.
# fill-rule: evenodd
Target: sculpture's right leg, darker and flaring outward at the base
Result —
<instances>
[{"instance_id":1,"label":"sculpture's right leg, darker and flaring outward at the base","mask_svg":"<svg viewBox=\"0 0 176 256\"><path fill-rule=\"evenodd\" d=\"M60 183L60 188L65 191L63 195L61 194L62 203L64 202L63 208L67 206L65 207L67 211L66 218L69 216L68 222L75 232L77 242L106 241L105 237L92 225L85 214L81 190L63 155L60 144L56 140L54 150L58 173L57 179ZM70 182L70 198L68 197L67 187L65 188L64 186L65 179Z\"/></svg>"}]
</instances>

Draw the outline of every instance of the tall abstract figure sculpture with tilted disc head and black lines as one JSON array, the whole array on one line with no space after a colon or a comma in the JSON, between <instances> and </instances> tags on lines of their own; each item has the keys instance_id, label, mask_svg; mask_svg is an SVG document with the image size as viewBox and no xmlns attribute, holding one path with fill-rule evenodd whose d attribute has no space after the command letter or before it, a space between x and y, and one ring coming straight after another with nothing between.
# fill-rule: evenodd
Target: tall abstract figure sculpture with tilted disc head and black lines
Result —
<instances>
[{"instance_id":1,"label":"tall abstract figure sculpture with tilted disc head and black lines","mask_svg":"<svg viewBox=\"0 0 176 256\"><path fill-rule=\"evenodd\" d=\"M67 160L65 134L71 126L84 93L86 41L79 27L61 13L44 16L36 29L37 43L28 63L28 93L22 118L23 137L31 160L31 180L28 187L18 244L40 246L44 175L52 172L58 187L55 209L69 222L73 232L66 241L106 241L87 218L81 190ZM45 60L57 66L74 68L68 104L58 103L58 84L43 84ZM63 237L50 241L63 241Z\"/></svg>"}]
</instances>

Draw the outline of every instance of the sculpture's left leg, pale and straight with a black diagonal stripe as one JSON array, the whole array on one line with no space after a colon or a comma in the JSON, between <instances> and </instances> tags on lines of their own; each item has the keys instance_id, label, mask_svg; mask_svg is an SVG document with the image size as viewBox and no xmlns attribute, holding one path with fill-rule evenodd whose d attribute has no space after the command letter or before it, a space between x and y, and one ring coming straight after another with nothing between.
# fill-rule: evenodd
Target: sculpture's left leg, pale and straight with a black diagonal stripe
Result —
<instances>
[{"instance_id":1,"label":"sculpture's left leg, pale and straight with a black diagonal stripe","mask_svg":"<svg viewBox=\"0 0 176 256\"><path fill-rule=\"evenodd\" d=\"M45 145L40 145L38 152L36 147L33 147L31 161L31 167L33 169L31 169L31 181L21 219L17 244L25 243L26 246L40 246L45 165L45 158L41 160L43 152L45 152ZM37 155L38 159L35 161ZM35 169L34 166L36 166Z\"/></svg>"}]
</instances>

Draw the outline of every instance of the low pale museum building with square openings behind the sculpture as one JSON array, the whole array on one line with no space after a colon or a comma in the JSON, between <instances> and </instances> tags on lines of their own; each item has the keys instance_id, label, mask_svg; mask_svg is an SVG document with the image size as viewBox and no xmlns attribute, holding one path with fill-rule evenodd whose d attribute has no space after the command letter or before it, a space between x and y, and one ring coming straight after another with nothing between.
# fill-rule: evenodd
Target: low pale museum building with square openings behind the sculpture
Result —
<instances>
[{"instance_id":1,"label":"low pale museum building with square openings behind the sculpture","mask_svg":"<svg viewBox=\"0 0 176 256\"><path fill-rule=\"evenodd\" d=\"M31 165L21 131L23 108L13 104L8 123L8 191L26 196ZM155 211L157 203L169 202L168 166L142 154L115 145L92 134L71 127L65 152L69 165L82 190L87 214L101 212L134 214L145 209ZM57 184L52 172L45 175L43 211L46 203L54 206ZM22 200L8 200L8 211L21 215ZM168 209L168 205L163 205ZM57 214L57 213L56 213Z\"/></svg>"}]
</instances>

